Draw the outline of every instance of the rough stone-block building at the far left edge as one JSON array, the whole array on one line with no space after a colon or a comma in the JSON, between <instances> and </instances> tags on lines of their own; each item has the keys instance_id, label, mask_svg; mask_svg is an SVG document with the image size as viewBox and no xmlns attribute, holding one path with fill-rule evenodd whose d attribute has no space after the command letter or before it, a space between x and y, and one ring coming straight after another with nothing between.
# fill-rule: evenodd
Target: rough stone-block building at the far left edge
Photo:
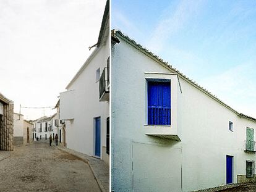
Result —
<instances>
[{"instance_id":1,"label":"rough stone-block building at the far left edge","mask_svg":"<svg viewBox=\"0 0 256 192\"><path fill-rule=\"evenodd\" d=\"M0 93L0 150L14 149L14 103Z\"/></svg>"}]
</instances>

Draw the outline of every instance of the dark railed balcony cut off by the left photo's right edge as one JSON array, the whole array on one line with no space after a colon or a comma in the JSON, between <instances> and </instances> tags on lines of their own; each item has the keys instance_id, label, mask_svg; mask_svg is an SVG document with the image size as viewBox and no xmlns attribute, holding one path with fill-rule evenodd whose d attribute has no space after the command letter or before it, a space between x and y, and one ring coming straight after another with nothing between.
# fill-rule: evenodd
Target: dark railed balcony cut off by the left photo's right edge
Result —
<instances>
[{"instance_id":1,"label":"dark railed balcony cut off by the left photo's right edge","mask_svg":"<svg viewBox=\"0 0 256 192\"><path fill-rule=\"evenodd\" d=\"M109 101L109 68L105 67L100 77L100 101Z\"/></svg>"}]
</instances>

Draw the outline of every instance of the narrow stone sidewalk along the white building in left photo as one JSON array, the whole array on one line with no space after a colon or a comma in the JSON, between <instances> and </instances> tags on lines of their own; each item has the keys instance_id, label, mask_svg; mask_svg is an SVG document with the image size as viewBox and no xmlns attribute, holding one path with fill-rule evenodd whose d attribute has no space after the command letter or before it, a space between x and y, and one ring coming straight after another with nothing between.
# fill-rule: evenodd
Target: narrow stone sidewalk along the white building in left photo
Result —
<instances>
[{"instance_id":1,"label":"narrow stone sidewalk along the white building in left photo","mask_svg":"<svg viewBox=\"0 0 256 192\"><path fill-rule=\"evenodd\" d=\"M79 157L82 161L87 162L88 165L90 165L90 168L92 169L92 172L96 178L96 181L98 182L98 185L101 188L101 191L109 191L109 166L105 162L95 157L90 157L86 154L74 151L72 149L64 148L61 145L56 146L55 143L53 144L53 146L62 151L68 152L74 156Z\"/></svg>"}]
</instances>

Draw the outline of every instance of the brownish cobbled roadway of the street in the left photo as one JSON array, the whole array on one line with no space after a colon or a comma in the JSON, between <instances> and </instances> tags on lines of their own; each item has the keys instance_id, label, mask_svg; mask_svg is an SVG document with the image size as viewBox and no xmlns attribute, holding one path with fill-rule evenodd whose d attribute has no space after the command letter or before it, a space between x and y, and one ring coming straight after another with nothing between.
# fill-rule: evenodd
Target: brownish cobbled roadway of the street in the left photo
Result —
<instances>
[{"instance_id":1,"label":"brownish cobbled roadway of the street in the left photo","mask_svg":"<svg viewBox=\"0 0 256 192\"><path fill-rule=\"evenodd\" d=\"M88 164L43 142L15 146L0 173L0 192L101 191Z\"/></svg>"}]
</instances>

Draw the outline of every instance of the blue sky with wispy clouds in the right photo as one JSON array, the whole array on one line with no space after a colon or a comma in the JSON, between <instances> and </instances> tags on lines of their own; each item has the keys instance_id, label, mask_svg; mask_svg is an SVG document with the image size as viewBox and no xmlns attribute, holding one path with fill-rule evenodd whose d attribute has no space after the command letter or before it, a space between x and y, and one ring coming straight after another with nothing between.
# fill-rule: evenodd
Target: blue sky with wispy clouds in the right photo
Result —
<instances>
[{"instance_id":1,"label":"blue sky with wispy clouds in the right photo","mask_svg":"<svg viewBox=\"0 0 256 192\"><path fill-rule=\"evenodd\" d=\"M255 7L256 1L112 0L111 28L256 118Z\"/></svg>"}]
</instances>

